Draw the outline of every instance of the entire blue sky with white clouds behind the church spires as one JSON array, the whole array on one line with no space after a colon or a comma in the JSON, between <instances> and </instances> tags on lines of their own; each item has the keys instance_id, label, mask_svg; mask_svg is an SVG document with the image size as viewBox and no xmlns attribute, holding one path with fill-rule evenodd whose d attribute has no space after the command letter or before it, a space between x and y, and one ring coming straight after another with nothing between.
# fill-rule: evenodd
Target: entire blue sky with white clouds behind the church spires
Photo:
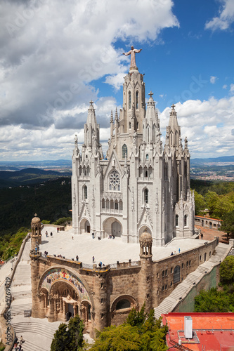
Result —
<instances>
[{"instance_id":1,"label":"entire blue sky with white clouds behind the church spires","mask_svg":"<svg viewBox=\"0 0 234 351\"><path fill-rule=\"evenodd\" d=\"M70 159L91 99L105 150L131 44L162 139L174 102L192 158L233 154L233 0L4 0L0 19L1 161Z\"/></svg>"}]
</instances>

